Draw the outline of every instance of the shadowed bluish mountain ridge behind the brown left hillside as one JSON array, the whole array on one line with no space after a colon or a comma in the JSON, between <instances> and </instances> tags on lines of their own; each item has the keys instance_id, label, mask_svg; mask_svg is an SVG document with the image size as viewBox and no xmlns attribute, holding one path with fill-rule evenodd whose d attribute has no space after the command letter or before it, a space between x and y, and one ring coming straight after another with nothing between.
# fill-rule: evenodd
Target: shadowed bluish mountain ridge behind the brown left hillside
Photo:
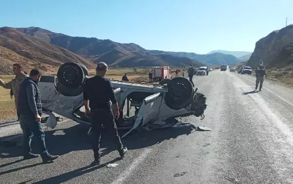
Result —
<instances>
[{"instance_id":1,"label":"shadowed bluish mountain ridge behind the brown left hillside","mask_svg":"<svg viewBox=\"0 0 293 184\"><path fill-rule=\"evenodd\" d=\"M138 65L152 66L153 64L185 66L188 63L193 63L195 66L203 66L205 65L203 64L204 62L207 62L209 65L239 62L236 57L232 58L230 55L206 56L184 52L149 51L134 43L117 43L109 39L102 40L94 37L70 37L38 27L17 29L22 33L41 38L75 54L83 55L84 58L95 63L105 61L111 66L134 67ZM172 55L173 57L166 55Z\"/></svg>"}]
</instances>

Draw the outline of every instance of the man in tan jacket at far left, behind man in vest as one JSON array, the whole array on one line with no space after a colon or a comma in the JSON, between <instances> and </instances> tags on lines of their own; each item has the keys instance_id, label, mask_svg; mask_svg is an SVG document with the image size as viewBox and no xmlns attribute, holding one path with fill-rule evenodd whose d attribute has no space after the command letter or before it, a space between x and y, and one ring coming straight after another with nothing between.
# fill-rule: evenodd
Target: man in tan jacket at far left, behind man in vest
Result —
<instances>
[{"instance_id":1,"label":"man in tan jacket at far left, behind man in vest","mask_svg":"<svg viewBox=\"0 0 293 184\"><path fill-rule=\"evenodd\" d=\"M22 71L22 67L20 64L15 63L12 65L13 74L15 74L15 77L10 82L4 82L2 79L0 79L0 86L2 86L5 89L10 89L10 95L14 95L14 103L15 103L15 109L17 112L18 121L20 120L20 114L17 110L18 108L18 95L19 95L19 87L21 82L28 77L28 75L24 74ZM11 98L12 99L12 98Z\"/></svg>"}]
</instances>

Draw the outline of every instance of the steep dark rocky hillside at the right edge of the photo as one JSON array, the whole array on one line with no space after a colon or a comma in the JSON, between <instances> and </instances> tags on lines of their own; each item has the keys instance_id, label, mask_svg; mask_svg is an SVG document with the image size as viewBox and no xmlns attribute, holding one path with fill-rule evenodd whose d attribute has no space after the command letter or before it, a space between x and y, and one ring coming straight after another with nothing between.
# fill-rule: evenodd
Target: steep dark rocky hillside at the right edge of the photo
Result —
<instances>
[{"instance_id":1,"label":"steep dark rocky hillside at the right edge of the photo","mask_svg":"<svg viewBox=\"0 0 293 184\"><path fill-rule=\"evenodd\" d=\"M255 43L255 49L247 64L255 67L260 59L268 67L292 63L293 25L273 31Z\"/></svg>"}]
</instances>

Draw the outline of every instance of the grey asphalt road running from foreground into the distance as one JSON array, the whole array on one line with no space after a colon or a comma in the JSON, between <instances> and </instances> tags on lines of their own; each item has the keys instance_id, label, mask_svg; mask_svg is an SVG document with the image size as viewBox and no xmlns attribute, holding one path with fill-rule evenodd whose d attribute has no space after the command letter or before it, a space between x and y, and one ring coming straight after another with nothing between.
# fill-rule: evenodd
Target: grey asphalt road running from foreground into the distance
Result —
<instances>
[{"instance_id":1,"label":"grey asphalt road running from foreground into the distance","mask_svg":"<svg viewBox=\"0 0 293 184\"><path fill-rule=\"evenodd\" d=\"M86 126L64 120L46 131L49 152L61 156L44 165L21 160L19 124L1 121L0 140L18 144L0 146L0 183L293 183L293 89L265 80L262 92L252 92L253 76L219 70L193 79L208 97L204 120L189 116L127 136L123 160L102 134L101 166L89 166Z\"/></svg>"}]
</instances>

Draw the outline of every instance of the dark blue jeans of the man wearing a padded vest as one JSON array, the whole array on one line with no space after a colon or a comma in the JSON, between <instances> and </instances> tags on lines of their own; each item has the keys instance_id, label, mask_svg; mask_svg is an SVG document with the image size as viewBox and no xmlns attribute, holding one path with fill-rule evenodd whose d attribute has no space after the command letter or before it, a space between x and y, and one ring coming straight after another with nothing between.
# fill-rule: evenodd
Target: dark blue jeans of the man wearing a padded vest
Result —
<instances>
[{"instance_id":1,"label":"dark blue jeans of the man wearing a padded vest","mask_svg":"<svg viewBox=\"0 0 293 184\"><path fill-rule=\"evenodd\" d=\"M20 124L23 131L23 154L28 155L31 153L31 139L35 135L37 137L41 157L47 156L48 151L45 145L45 133L42 130L41 123L37 122L34 116L21 115Z\"/></svg>"}]
</instances>

